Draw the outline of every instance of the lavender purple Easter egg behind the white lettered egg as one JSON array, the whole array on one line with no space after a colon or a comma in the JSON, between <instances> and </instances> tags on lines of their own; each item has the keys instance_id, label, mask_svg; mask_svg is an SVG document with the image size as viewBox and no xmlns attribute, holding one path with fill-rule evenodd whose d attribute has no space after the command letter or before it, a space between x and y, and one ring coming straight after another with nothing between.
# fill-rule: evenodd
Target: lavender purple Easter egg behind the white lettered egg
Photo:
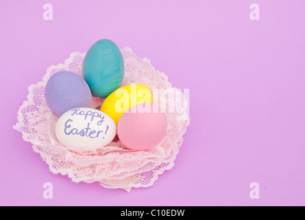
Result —
<instances>
[{"instance_id":1,"label":"lavender purple Easter egg behind the white lettered egg","mask_svg":"<svg viewBox=\"0 0 305 220\"><path fill-rule=\"evenodd\" d=\"M74 72L57 72L45 87L45 100L51 111L61 116L77 107L90 107L92 94L87 83Z\"/></svg>"}]
</instances>

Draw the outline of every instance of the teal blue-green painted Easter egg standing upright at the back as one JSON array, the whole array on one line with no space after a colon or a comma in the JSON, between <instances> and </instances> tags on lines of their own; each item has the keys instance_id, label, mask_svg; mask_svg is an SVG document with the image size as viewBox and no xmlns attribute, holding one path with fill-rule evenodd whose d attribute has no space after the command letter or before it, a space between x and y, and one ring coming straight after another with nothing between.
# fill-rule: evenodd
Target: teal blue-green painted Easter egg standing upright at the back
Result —
<instances>
[{"instance_id":1,"label":"teal blue-green painted Easter egg standing upright at the back","mask_svg":"<svg viewBox=\"0 0 305 220\"><path fill-rule=\"evenodd\" d=\"M83 78L92 95L106 98L123 82L124 60L118 46L110 40L97 41L83 61Z\"/></svg>"}]
</instances>

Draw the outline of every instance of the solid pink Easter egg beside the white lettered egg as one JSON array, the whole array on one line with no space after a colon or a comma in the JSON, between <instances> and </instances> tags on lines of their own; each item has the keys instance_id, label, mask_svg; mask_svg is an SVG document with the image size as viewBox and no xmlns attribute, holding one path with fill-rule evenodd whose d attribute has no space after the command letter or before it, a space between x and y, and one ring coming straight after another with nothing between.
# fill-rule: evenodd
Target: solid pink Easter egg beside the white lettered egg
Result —
<instances>
[{"instance_id":1,"label":"solid pink Easter egg beside the white lettered egg","mask_svg":"<svg viewBox=\"0 0 305 220\"><path fill-rule=\"evenodd\" d=\"M154 104L137 104L118 121L118 138L132 150L143 151L159 144L167 133L167 116Z\"/></svg>"}]
</instances>

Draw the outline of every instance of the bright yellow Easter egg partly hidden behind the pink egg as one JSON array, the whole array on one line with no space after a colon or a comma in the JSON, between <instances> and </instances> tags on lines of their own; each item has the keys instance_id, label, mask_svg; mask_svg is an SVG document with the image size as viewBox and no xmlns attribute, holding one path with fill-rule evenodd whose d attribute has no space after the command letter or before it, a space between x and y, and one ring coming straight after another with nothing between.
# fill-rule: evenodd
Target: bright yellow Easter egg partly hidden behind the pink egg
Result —
<instances>
[{"instance_id":1,"label":"bright yellow Easter egg partly hidden behind the pink egg","mask_svg":"<svg viewBox=\"0 0 305 220\"><path fill-rule=\"evenodd\" d=\"M101 111L109 115L116 124L123 113L140 103L151 103L151 91L145 85L132 84L116 89L105 98Z\"/></svg>"}]
</instances>

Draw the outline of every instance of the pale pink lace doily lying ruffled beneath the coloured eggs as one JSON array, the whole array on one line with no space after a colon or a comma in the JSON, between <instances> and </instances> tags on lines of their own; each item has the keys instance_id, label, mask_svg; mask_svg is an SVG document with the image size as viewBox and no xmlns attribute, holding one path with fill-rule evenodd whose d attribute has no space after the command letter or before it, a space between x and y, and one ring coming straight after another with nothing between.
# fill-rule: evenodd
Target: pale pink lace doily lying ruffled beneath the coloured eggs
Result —
<instances>
[{"instance_id":1,"label":"pale pink lace doily lying ruffled beneath the coloured eggs","mask_svg":"<svg viewBox=\"0 0 305 220\"><path fill-rule=\"evenodd\" d=\"M129 150L117 138L94 151L69 151L62 146L54 132L58 118L45 102L45 85L50 76L59 71L71 71L81 76L85 53L73 52L64 64L50 66L42 82L30 85L27 100L18 111L18 122L13 126L21 131L23 140L33 144L34 151L41 155L52 173L67 175L74 182L98 181L105 188L129 191L133 187L152 186L158 175L173 167L182 135L189 125L185 95L171 87L167 76L156 71L147 58L138 58L129 47L121 52L125 63L123 85L140 83L151 89L153 103L167 109L167 136L161 144L147 151ZM102 103L103 99L93 98L91 107L101 107Z\"/></svg>"}]
</instances>

